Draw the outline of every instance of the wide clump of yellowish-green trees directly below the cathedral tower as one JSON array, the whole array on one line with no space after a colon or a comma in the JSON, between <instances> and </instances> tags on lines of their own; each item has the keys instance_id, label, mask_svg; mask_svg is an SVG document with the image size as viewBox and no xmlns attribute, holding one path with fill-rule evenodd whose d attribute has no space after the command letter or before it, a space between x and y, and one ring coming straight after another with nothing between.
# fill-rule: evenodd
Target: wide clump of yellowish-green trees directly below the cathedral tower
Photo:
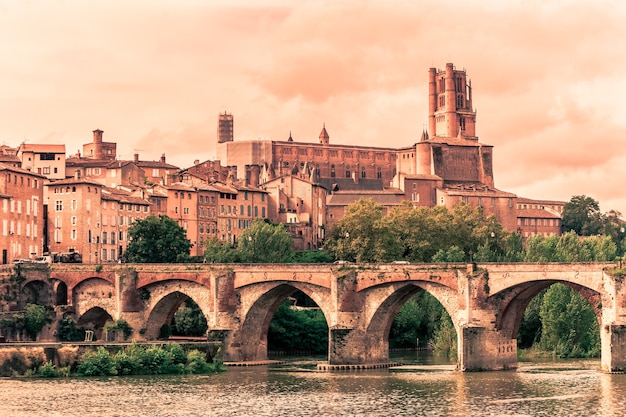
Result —
<instances>
[{"instance_id":1,"label":"wide clump of yellowish-green trees directly below the cathedral tower","mask_svg":"<svg viewBox=\"0 0 626 417\"><path fill-rule=\"evenodd\" d=\"M326 241L335 258L353 262L463 262L477 254L481 262L520 258L521 236L504 230L482 208L459 204L395 207L387 216L372 199L361 198L346 208Z\"/></svg>"}]
</instances>

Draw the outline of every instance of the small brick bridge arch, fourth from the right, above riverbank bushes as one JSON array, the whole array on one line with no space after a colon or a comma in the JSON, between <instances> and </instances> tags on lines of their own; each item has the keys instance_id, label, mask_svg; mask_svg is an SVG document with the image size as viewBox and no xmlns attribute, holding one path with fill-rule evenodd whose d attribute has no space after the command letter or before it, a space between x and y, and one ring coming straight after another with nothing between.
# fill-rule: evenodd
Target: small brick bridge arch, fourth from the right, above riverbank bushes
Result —
<instances>
[{"instance_id":1,"label":"small brick bridge arch, fourth from the right, above riverbank bushes","mask_svg":"<svg viewBox=\"0 0 626 417\"><path fill-rule=\"evenodd\" d=\"M187 280L173 279L147 285L140 291L150 294L144 334L147 340L158 339L161 327L164 324L172 324L174 314L188 299L193 300L200 307L209 328L211 328L209 314L212 310L211 293L205 285Z\"/></svg>"}]
</instances>

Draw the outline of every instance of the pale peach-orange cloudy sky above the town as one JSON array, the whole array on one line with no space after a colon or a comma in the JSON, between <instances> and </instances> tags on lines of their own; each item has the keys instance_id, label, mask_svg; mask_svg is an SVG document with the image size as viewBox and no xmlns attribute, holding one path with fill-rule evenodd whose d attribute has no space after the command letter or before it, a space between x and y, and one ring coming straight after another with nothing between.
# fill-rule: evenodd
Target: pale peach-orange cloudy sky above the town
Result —
<instances>
[{"instance_id":1,"label":"pale peach-orange cloudy sky above the town","mask_svg":"<svg viewBox=\"0 0 626 417\"><path fill-rule=\"evenodd\" d=\"M404 147L428 70L473 86L496 188L626 216L621 0L0 0L0 142L104 131L118 157L180 167L235 140Z\"/></svg>"}]
</instances>

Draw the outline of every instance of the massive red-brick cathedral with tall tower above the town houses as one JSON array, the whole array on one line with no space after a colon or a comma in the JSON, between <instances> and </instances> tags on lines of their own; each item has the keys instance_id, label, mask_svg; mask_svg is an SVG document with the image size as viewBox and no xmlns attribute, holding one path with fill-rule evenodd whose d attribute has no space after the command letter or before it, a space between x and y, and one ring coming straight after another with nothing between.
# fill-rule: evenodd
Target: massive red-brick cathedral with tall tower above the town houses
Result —
<instances>
[{"instance_id":1,"label":"massive red-brick cathedral with tall tower above the town houses","mask_svg":"<svg viewBox=\"0 0 626 417\"><path fill-rule=\"evenodd\" d=\"M452 63L444 69L430 68L428 86L428 129L413 145L334 144L325 126L319 140L312 142L297 142L291 135L286 140L235 140L233 116L224 113L218 121L218 159L236 167L238 177L250 186L263 188L291 176L319 185L326 190L319 219L326 230L349 204L368 197L385 210L405 200L426 207L465 203L482 207L485 215L493 214L507 230L524 238L559 234L564 202L532 200L495 188L493 146L481 143L476 135L466 71ZM290 197L306 205L302 200L307 196Z\"/></svg>"}]
</instances>

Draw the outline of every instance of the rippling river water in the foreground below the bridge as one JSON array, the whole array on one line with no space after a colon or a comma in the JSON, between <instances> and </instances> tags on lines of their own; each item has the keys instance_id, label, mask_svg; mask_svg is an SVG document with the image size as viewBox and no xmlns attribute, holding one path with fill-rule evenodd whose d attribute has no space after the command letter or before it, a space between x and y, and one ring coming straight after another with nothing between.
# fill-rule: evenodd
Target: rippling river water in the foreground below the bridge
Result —
<instances>
[{"instance_id":1,"label":"rippling river water in the foreground below the bridge","mask_svg":"<svg viewBox=\"0 0 626 417\"><path fill-rule=\"evenodd\" d=\"M0 416L626 416L626 375L600 372L598 360L482 373L408 362L332 373L309 360L202 376L2 379Z\"/></svg>"}]
</instances>

